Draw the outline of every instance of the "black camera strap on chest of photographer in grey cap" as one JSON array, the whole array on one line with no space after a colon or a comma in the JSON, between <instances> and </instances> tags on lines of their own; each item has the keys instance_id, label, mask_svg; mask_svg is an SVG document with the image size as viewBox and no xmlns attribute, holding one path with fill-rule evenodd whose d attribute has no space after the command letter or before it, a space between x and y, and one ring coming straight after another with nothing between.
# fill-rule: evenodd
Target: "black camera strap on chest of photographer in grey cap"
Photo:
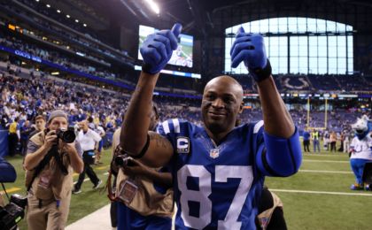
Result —
<instances>
[{"instance_id":1,"label":"black camera strap on chest of photographer in grey cap","mask_svg":"<svg viewBox=\"0 0 372 230\"><path fill-rule=\"evenodd\" d=\"M42 173L45 165L47 165L50 162L51 157L54 157L56 159L57 165L58 165L59 169L61 170L61 172L64 175L67 175L68 174L68 171L67 171L65 165L63 165L63 162L62 162L61 157L59 157L58 146L57 145L53 145L51 147L51 149L48 151L48 153L45 155L45 157L43 157L43 160L39 163L39 165L37 165L35 167L35 173L34 173L34 175L32 177L31 182L28 184L27 192L31 189L32 184L34 183L35 178L40 173Z\"/></svg>"}]
</instances>

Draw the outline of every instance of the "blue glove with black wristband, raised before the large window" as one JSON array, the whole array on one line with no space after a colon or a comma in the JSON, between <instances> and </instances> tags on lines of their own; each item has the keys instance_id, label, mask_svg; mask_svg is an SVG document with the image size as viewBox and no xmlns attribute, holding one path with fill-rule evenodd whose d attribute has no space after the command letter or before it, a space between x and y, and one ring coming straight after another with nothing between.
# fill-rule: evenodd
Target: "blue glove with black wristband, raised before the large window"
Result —
<instances>
[{"instance_id":1,"label":"blue glove with black wristband, raised before the large window","mask_svg":"<svg viewBox=\"0 0 372 230\"><path fill-rule=\"evenodd\" d=\"M261 35L237 31L236 40L230 50L231 67L236 68L242 61L253 79L261 81L271 75L271 65L267 60L265 44Z\"/></svg>"}]
</instances>

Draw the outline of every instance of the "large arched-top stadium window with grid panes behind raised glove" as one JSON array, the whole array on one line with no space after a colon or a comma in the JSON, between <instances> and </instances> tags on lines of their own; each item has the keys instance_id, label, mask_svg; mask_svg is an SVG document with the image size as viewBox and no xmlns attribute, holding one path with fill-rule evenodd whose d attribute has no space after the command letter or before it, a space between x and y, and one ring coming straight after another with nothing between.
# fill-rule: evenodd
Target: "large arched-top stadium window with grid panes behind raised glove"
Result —
<instances>
[{"instance_id":1,"label":"large arched-top stadium window with grid panes behind raised glove","mask_svg":"<svg viewBox=\"0 0 372 230\"><path fill-rule=\"evenodd\" d=\"M288 65L289 73L353 73L352 26L296 17L255 20L227 28L226 73L247 73L244 65L236 69L230 67L229 50L235 40L234 34L241 26L246 32L264 35L273 73L288 73Z\"/></svg>"}]
</instances>

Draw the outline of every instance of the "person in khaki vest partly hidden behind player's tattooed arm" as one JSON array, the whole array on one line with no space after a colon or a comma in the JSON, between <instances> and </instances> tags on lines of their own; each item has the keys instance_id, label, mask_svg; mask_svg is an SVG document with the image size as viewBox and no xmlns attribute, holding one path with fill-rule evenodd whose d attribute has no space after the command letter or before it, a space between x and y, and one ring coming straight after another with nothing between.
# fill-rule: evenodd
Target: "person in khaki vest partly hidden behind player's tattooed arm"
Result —
<instances>
[{"instance_id":1,"label":"person in khaki vest partly hidden behind player's tattooed arm","mask_svg":"<svg viewBox=\"0 0 372 230\"><path fill-rule=\"evenodd\" d=\"M159 113L152 103L149 131L158 126ZM121 128L112 137L112 173L117 176L115 200L117 227L121 229L171 229L174 211L172 175L169 169L150 168L122 155Z\"/></svg>"}]
</instances>

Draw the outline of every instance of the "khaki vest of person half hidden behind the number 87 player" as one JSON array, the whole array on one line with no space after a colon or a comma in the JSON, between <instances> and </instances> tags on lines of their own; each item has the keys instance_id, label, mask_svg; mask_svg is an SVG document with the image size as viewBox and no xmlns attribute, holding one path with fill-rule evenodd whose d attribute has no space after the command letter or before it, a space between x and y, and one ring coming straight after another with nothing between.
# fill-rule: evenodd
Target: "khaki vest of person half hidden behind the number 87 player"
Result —
<instances>
[{"instance_id":1,"label":"khaki vest of person half hidden behind the number 87 player","mask_svg":"<svg viewBox=\"0 0 372 230\"><path fill-rule=\"evenodd\" d=\"M112 137L112 149L120 143L120 129L116 130ZM156 169L153 169L156 170ZM128 176L119 169L116 180L115 194L119 194L121 185L128 180ZM142 177L130 179L138 187L136 195L130 203L125 203L128 208L143 216L155 215L172 218L174 212L173 189L168 188L165 194L160 194L151 180Z\"/></svg>"}]
</instances>

